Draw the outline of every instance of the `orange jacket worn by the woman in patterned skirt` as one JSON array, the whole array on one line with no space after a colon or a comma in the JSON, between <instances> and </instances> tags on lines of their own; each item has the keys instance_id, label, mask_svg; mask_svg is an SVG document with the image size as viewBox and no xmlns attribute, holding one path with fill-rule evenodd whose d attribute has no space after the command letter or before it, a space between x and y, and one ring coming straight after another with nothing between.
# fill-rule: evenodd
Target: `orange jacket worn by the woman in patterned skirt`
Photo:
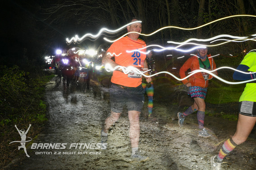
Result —
<instances>
[{"instance_id":1,"label":"orange jacket worn by the woman in patterned skirt","mask_svg":"<svg viewBox=\"0 0 256 170\"><path fill-rule=\"evenodd\" d=\"M210 61L210 65L211 65L211 70L213 68L216 69L216 64L213 60L213 58L211 57L211 55L207 55L209 61ZM211 57L211 58L209 58ZM181 79L184 78L186 75L185 75L185 72L190 68L191 72L193 72L194 70L199 70L199 59L197 56L192 56L190 57L184 64L183 66L181 67L180 69L180 76L181 76ZM212 79L212 75L209 75L209 79ZM209 80L208 79L208 80ZM185 79L183 80L182 82L184 84L187 84L187 83L191 83L192 86L200 86L200 87L208 87L208 80L205 81L204 78L203 78L203 75L201 72L198 72L198 73L195 73L193 74L192 76L189 77L189 80Z\"/></svg>"}]
</instances>

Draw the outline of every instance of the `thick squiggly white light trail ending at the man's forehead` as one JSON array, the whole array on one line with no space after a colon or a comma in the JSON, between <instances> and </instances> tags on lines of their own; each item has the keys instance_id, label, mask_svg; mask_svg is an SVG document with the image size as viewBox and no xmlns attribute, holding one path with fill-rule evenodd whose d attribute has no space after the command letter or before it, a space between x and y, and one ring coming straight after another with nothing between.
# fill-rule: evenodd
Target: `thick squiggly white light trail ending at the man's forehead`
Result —
<instances>
[{"instance_id":1,"label":"thick squiggly white light trail ending at the man's forehead","mask_svg":"<svg viewBox=\"0 0 256 170\"><path fill-rule=\"evenodd\" d=\"M133 21L133 22L130 22L130 23L128 23L128 24L126 24L126 25L120 27L119 29L116 29L116 30L109 30L109 29L107 29L107 28L102 28L102 29L98 32L98 34L93 35L93 34L88 33L88 34L85 34L85 35L84 35L83 37L81 37L81 38L79 38L78 35L75 35L75 37L72 37L71 39L66 38L66 42L67 42L68 44L71 44L72 42L75 43L75 42L78 42L78 41L82 41L82 40L83 40L84 38L86 38L86 37L97 38L97 37L99 37L103 32L114 34L115 32L118 32L118 31L124 29L126 26L129 26L129 25L131 25L131 24L138 23L138 22L141 23L141 21Z\"/></svg>"}]
</instances>

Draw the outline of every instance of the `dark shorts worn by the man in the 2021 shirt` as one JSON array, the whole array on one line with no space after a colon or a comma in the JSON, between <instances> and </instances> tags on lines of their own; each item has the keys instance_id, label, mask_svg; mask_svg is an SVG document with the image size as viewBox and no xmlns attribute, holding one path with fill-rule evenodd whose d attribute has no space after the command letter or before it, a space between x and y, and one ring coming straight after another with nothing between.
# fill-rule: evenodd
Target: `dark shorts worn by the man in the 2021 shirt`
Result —
<instances>
[{"instance_id":1,"label":"dark shorts worn by the man in the 2021 shirt","mask_svg":"<svg viewBox=\"0 0 256 170\"><path fill-rule=\"evenodd\" d=\"M144 89L142 85L137 87L126 87L112 83L110 86L111 111L121 113L124 106L128 111L140 111L144 104Z\"/></svg>"}]
</instances>

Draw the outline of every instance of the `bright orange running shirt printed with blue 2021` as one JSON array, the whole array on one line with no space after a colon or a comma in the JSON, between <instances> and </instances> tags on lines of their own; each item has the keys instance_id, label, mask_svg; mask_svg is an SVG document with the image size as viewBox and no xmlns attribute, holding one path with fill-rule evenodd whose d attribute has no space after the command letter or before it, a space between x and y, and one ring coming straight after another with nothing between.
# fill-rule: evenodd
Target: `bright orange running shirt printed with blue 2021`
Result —
<instances>
[{"instance_id":1,"label":"bright orange running shirt printed with blue 2021","mask_svg":"<svg viewBox=\"0 0 256 170\"><path fill-rule=\"evenodd\" d=\"M144 60L146 59L146 54L143 54L139 51L133 51L133 52L127 52L127 51L137 50L143 47L146 47L146 43L144 41L140 39L135 41L128 38L128 36L126 36L114 42L107 50L107 53L108 52L110 52L111 54L115 53L114 56L115 56L116 64L119 64L124 67L128 67L128 66L137 67L139 69L139 68L144 68ZM146 52L146 48L140 51ZM115 83L118 85L124 85L127 87L137 87L141 85L141 81L142 81L141 77L132 78L131 74L128 75L119 71L114 71L113 76L111 78L112 83Z\"/></svg>"}]
</instances>

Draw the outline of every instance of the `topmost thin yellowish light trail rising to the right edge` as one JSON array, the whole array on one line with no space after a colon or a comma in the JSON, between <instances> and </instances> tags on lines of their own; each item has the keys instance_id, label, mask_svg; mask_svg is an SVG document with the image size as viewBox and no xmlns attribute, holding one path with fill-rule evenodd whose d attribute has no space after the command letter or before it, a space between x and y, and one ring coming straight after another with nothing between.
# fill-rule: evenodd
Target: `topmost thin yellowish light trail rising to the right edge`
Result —
<instances>
[{"instance_id":1,"label":"topmost thin yellowish light trail rising to the right edge","mask_svg":"<svg viewBox=\"0 0 256 170\"><path fill-rule=\"evenodd\" d=\"M115 39L115 40L109 40L107 38L103 38L105 41L107 42L110 42L110 43L113 43L117 40L119 40L120 38L123 38L124 36L126 36L127 34L132 34L132 33L137 33L137 34L140 34L140 35L144 35L144 36L151 36L157 32L159 32L160 30L164 30L164 29L168 29L168 28L177 28L177 29L180 29L180 30L196 30L196 29L199 29L199 28L202 28L204 26L207 26L207 25L210 25L214 22L217 22L217 21L221 21L221 20L224 20L224 19L227 19L227 18L231 18L231 17L256 17L255 15L232 15L232 16L228 16L228 17L223 17L223 18L220 18L220 19L217 19L217 20L214 20L214 21L211 21L211 22L208 22L202 26L198 26L198 27L194 27L194 28L182 28L182 27L177 27L177 26L166 26L166 27L163 27L163 28L160 28L159 30L156 30L154 31L153 33L151 34L141 34L141 33L138 33L138 32L129 32L129 33L126 33L124 34L123 36Z\"/></svg>"}]
</instances>

